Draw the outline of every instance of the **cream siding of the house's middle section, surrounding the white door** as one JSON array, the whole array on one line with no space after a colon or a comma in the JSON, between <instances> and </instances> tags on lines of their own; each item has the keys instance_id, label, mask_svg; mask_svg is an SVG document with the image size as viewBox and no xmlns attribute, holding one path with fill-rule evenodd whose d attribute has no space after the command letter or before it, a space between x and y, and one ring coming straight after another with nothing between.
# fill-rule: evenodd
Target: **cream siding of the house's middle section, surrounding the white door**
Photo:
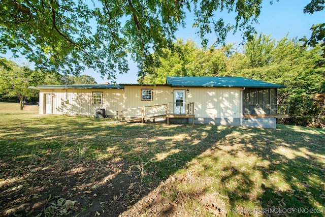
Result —
<instances>
[{"instance_id":1,"label":"cream siding of the house's middle section, surrounding the white door","mask_svg":"<svg viewBox=\"0 0 325 217\"><path fill-rule=\"evenodd\" d=\"M141 89L152 89L151 101L141 100ZM213 87L170 87L170 86L125 86L125 109L141 108L174 102L174 90L188 89L185 102L194 102L194 114L197 123L221 125L239 125L241 88ZM150 108L146 108L147 112ZM161 108L164 110L164 108ZM165 109L166 110L166 109ZM141 116L141 109L124 112L125 116ZM159 114L157 112L156 114Z\"/></svg>"}]
</instances>

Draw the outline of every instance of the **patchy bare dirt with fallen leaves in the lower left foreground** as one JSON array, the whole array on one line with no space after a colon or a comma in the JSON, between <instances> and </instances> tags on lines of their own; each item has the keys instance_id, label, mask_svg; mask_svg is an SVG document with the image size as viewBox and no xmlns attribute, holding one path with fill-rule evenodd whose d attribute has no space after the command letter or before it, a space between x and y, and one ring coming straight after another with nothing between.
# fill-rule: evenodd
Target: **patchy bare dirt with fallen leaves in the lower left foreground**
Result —
<instances>
[{"instance_id":1,"label":"patchy bare dirt with fallen leaves in the lower left foreground","mask_svg":"<svg viewBox=\"0 0 325 217\"><path fill-rule=\"evenodd\" d=\"M164 182L144 184L143 171L121 159L45 162L36 158L33 162L17 166L1 163L0 216L185 214L181 203L161 196Z\"/></svg>"}]
</instances>

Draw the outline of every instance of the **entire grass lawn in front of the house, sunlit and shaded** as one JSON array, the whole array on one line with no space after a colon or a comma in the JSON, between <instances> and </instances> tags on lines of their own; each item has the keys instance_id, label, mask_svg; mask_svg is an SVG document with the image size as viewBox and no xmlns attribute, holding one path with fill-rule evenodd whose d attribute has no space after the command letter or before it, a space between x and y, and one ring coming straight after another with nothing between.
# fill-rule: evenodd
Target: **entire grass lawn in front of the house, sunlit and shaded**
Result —
<instances>
[{"instance_id":1,"label":"entire grass lawn in front of the house, sunlit and shaded","mask_svg":"<svg viewBox=\"0 0 325 217\"><path fill-rule=\"evenodd\" d=\"M325 130L115 124L0 103L0 216L323 216Z\"/></svg>"}]
</instances>

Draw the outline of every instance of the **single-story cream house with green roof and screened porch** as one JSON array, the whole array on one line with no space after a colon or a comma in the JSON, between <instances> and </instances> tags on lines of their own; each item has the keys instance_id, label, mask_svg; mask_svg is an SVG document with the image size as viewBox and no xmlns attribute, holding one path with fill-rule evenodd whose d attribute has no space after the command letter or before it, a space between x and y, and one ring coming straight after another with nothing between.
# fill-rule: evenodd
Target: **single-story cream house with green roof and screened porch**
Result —
<instances>
[{"instance_id":1,"label":"single-story cream house with green roof and screened porch","mask_svg":"<svg viewBox=\"0 0 325 217\"><path fill-rule=\"evenodd\" d=\"M277 104L284 86L241 77L167 77L166 84L78 84L40 90L40 114L117 120L171 118L213 125L275 128L288 117ZM283 109L284 108L284 109ZM281 111L280 111L281 110Z\"/></svg>"}]
</instances>

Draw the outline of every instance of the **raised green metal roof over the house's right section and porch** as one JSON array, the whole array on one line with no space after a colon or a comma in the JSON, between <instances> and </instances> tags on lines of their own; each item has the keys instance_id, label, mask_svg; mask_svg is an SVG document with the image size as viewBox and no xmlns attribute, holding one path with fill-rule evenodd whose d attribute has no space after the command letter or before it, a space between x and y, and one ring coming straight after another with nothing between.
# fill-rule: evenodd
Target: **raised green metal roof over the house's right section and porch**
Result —
<instances>
[{"instance_id":1,"label":"raised green metal roof over the house's right section and porch","mask_svg":"<svg viewBox=\"0 0 325 217\"><path fill-rule=\"evenodd\" d=\"M285 87L263 81L241 77L167 77L166 83L176 87L247 87L281 88Z\"/></svg>"}]
</instances>

